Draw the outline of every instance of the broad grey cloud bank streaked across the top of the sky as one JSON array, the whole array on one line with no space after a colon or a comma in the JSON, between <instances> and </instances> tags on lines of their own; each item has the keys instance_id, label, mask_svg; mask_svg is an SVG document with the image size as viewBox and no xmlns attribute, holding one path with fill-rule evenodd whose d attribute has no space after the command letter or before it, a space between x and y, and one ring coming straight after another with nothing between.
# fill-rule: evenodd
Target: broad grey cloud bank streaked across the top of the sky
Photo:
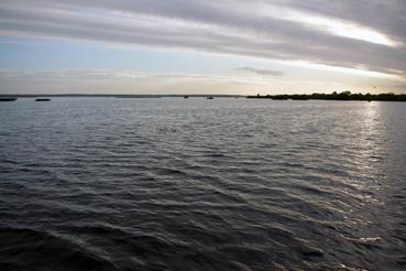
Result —
<instances>
[{"instance_id":1,"label":"broad grey cloud bank streaked across the top of the sky","mask_svg":"<svg viewBox=\"0 0 406 271\"><path fill-rule=\"evenodd\" d=\"M403 0L13 0L0 3L0 34L305 61L406 77L405 13Z\"/></svg>"}]
</instances>

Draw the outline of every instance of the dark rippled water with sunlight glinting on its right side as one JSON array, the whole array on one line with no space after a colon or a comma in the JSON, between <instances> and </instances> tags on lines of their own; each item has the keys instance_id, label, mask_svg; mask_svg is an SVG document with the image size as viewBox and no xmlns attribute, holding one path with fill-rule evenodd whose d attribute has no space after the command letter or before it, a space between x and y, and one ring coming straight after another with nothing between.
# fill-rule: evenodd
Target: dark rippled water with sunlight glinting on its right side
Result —
<instances>
[{"instance_id":1,"label":"dark rippled water with sunlight glinting on its right side","mask_svg":"<svg viewBox=\"0 0 406 271\"><path fill-rule=\"evenodd\" d=\"M0 270L405 270L406 104L0 105Z\"/></svg>"}]
</instances>

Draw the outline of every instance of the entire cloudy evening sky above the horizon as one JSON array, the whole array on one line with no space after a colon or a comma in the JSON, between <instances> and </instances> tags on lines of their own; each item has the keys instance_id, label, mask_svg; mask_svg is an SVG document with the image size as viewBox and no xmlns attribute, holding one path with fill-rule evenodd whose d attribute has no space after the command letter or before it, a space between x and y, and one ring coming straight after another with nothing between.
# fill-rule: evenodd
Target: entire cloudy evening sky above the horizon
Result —
<instances>
[{"instance_id":1,"label":"entire cloudy evening sky above the horizon","mask_svg":"<svg viewBox=\"0 0 406 271\"><path fill-rule=\"evenodd\" d=\"M406 93L405 0L0 0L0 94Z\"/></svg>"}]
</instances>

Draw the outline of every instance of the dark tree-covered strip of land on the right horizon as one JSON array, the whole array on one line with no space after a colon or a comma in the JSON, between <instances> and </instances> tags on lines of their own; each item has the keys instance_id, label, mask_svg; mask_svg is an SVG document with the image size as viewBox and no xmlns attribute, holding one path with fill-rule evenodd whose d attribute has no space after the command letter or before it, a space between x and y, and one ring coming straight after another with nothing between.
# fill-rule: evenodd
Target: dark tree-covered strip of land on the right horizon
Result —
<instances>
[{"instance_id":1,"label":"dark tree-covered strip of land on the right horizon","mask_svg":"<svg viewBox=\"0 0 406 271\"><path fill-rule=\"evenodd\" d=\"M380 101L406 101L406 94L352 94L342 91L332 94L284 94L284 95L255 95L246 96L249 99L273 99L273 100L380 100Z\"/></svg>"}]
</instances>

